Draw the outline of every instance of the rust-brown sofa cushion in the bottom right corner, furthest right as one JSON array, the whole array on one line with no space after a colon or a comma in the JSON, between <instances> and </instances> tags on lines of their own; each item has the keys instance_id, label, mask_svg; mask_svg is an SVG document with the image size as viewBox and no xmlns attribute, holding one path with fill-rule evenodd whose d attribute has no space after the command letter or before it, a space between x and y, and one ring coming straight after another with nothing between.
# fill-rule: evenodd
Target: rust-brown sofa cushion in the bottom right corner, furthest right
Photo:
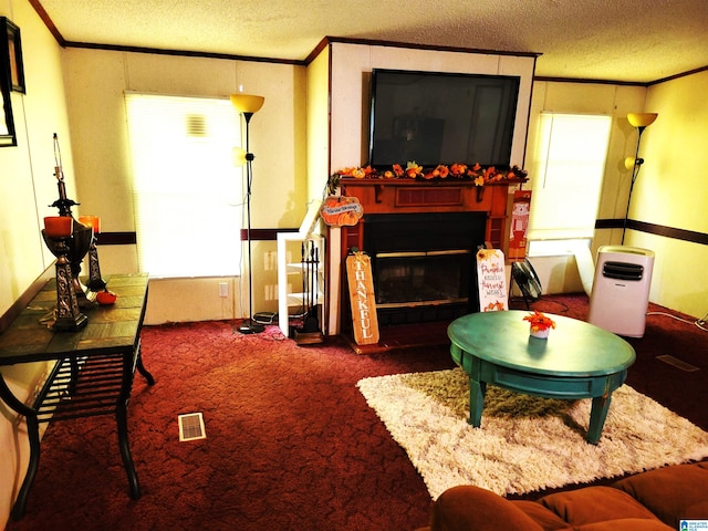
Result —
<instances>
[{"instance_id":1,"label":"rust-brown sofa cushion in the bottom right corner, furthest right","mask_svg":"<svg viewBox=\"0 0 708 531\"><path fill-rule=\"evenodd\" d=\"M622 479L614 488L629 493L664 523L708 519L708 464L674 465Z\"/></svg>"}]
</instances>

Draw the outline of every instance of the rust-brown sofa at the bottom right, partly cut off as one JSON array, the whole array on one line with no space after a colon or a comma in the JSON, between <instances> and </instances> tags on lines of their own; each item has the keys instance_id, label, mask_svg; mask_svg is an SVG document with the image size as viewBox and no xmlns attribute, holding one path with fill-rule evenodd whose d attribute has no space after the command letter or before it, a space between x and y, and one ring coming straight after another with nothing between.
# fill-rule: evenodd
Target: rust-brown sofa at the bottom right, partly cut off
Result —
<instances>
[{"instance_id":1,"label":"rust-brown sofa at the bottom right, partly cut off","mask_svg":"<svg viewBox=\"0 0 708 531\"><path fill-rule=\"evenodd\" d=\"M708 520L708 461L675 465L539 500L507 500L473 486L446 490L426 531L666 531ZM420 530L423 531L423 530Z\"/></svg>"}]
</instances>

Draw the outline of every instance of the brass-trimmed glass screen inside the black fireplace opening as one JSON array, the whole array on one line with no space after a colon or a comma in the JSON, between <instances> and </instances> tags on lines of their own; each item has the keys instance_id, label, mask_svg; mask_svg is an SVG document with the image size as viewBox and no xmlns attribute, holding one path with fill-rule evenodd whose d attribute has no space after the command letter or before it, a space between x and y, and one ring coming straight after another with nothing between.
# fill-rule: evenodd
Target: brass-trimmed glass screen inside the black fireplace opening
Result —
<instances>
[{"instance_id":1,"label":"brass-trimmed glass screen inside the black fireplace opening","mask_svg":"<svg viewBox=\"0 0 708 531\"><path fill-rule=\"evenodd\" d=\"M466 302L470 254L469 250L377 253L376 308Z\"/></svg>"}]
</instances>

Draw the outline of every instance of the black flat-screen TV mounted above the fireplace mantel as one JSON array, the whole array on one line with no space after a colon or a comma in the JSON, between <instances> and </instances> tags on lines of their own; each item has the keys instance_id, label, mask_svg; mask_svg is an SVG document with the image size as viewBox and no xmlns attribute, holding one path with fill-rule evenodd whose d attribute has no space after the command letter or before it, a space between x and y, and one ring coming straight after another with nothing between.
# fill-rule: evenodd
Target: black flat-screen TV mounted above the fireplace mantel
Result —
<instances>
[{"instance_id":1,"label":"black flat-screen TV mounted above the fireplace mantel","mask_svg":"<svg viewBox=\"0 0 708 531\"><path fill-rule=\"evenodd\" d=\"M369 160L510 166L520 77L374 70Z\"/></svg>"}]
</instances>

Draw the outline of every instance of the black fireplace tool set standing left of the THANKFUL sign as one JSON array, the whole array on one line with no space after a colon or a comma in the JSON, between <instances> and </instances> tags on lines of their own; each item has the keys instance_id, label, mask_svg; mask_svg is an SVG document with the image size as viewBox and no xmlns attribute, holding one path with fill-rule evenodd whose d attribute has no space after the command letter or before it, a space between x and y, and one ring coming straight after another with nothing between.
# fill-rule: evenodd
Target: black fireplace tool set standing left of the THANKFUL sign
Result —
<instances>
[{"instance_id":1,"label":"black fireplace tool set standing left of the THANKFUL sign","mask_svg":"<svg viewBox=\"0 0 708 531\"><path fill-rule=\"evenodd\" d=\"M320 249L314 241L303 241L300 251L302 267L302 327L295 329L295 342L299 345L322 343L319 316L319 272Z\"/></svg>"}]
</instances>

